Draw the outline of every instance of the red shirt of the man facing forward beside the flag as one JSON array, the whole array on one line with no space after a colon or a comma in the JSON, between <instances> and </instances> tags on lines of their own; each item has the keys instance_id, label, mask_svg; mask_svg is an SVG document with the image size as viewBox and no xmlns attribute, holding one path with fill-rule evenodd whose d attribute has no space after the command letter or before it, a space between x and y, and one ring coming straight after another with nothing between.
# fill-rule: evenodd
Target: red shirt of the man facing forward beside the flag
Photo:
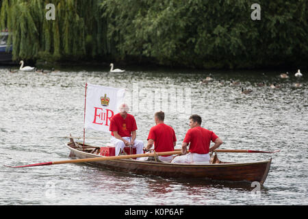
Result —
<instances>
[{"instance_id":1,"label":"red shirt of the man facing forward beside the flag","mask_svg":"<svg viewBox=\"0 0 308 219\"><path fill-rule=\"evenodd\" d=\"M109 127L112 136L114 136L113 131L118 131L121 137L131 137L131 132L136 130L136 120L131 114L127 114L125 119L120 114L112 116Z\"/></svg>"}]
</instances>

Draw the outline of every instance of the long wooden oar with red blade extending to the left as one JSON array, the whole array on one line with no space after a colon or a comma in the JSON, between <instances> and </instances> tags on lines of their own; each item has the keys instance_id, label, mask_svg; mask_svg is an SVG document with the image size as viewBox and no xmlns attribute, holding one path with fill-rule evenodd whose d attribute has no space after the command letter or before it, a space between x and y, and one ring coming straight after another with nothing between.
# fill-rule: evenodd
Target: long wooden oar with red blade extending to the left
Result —
<instances>
[{"instance_id":1,"label":"long wooden oar with red blade extending to the left","mask_svg":"<svg viewBox=\"0 0 308 219\"><path fill-rule=\"evenodd\" d=\"M22 168L22 167L31 167L31 166L46 166L53 164L72 164L72 163L82 163L82 162L100 162L104 160L114 160L114 159L129 159L129 158L137 158L137 157L155 157L155 156L163 156L163 155L177 155L180 154L181 151L167 151L167 152L159 152L159 153L142 153L138 155L120 155L120 156L111 156L111 157L94 157L94 158L84 158L84 159L66 159L58 162L46 162L39 164L29 164L25 166L7 166L10 168Z\"/></svg>"}]
</instances>

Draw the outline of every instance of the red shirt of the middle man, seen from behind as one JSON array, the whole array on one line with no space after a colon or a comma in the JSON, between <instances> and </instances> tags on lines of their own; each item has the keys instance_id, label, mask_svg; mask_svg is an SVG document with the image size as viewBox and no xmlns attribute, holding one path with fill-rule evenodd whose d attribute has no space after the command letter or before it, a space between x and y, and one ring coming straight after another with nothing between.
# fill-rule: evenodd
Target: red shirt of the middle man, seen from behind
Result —
<instances>
[{"instance_id":1,"label":"red shirt of the middle man, seen from behind","mask_svg":"<svg viewBox=\"0 0 308 219\"><path fill-rule=\"evenodd\" d=\"M173 142L177 141L175 130L172 127L160 123L150 129L148 140L154 140L154 149L156 152L174 151Z\"/></svg>"}]
</instances>

